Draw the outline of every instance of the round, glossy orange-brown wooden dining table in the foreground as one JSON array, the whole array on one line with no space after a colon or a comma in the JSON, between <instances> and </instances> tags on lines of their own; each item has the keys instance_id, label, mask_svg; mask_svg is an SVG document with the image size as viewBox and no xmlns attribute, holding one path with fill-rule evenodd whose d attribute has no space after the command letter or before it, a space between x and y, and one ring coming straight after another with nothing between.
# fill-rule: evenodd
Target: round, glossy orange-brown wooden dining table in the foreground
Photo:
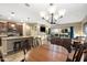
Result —
<instances>
[{"instance_id":1,"label":"round, glossy orange-brown wooden dining table in the foreground","mask_svg":"<svg viewBox=\"0 0 87 65\"><path fill-rule=\"evenodd\" d=\"M25 62L66 62L68 51L55 44L42 44L25 54Z\"/></svg>"}]
</instances>

